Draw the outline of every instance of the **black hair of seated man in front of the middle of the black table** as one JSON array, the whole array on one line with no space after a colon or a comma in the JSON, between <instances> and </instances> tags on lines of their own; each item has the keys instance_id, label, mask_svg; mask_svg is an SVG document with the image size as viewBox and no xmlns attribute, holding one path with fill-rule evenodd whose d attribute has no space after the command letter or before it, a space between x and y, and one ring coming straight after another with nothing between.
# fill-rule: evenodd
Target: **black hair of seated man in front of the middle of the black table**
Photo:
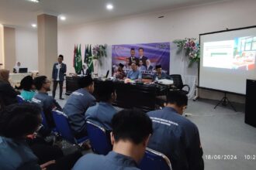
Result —
<instances>
[{"instance_id":1,"label":"black hair of seated man in front of the middle of the black table","mask_svg":"<svg viewBox=\"0 0 256 170\"><path fill-rule=\"evenodd\" d=\"M107 102L111 99L112 93L115 93L114 83L112 81L102 82L102 86L98 88L99 101Z\"/></svg>"}]
</instances>

